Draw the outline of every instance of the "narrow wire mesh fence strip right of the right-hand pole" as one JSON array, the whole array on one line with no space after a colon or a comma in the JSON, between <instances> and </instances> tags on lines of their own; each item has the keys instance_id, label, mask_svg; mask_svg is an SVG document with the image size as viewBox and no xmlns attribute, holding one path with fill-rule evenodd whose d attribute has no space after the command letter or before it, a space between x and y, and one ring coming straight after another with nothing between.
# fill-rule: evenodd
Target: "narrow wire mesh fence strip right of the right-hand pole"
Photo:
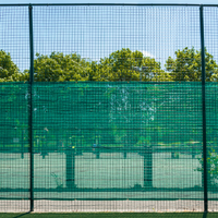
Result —
<instances>
[{"instance_id":1,"label":"narrow wire mesh fence strip right of the right-hand pole","mask_svg":"<svg viewBox=\"0 0 218 218\"><path fill-rule=\"evenodd\" d=\"M213 14L213 16L211 16ZM217 60L218 52L218 28L217 28L217 8L206 8L204 9L205 16L205 47L207 52L213 55ZM216 72L216 69L210 70ZM217 83L206 83L206 116L207 116L207 170L208 170L208 198L209 198L209 210L215 210L213 205L214 201L217 201Z\"/></svg>"}]
</instances>

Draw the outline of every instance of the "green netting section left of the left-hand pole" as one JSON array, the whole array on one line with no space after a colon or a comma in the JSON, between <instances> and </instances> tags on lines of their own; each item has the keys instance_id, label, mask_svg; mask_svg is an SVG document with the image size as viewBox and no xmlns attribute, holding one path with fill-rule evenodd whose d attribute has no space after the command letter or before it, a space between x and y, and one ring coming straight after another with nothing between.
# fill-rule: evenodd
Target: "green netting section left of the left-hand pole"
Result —
<instances>
[{"instance_id":1,"label":"green netting section left of the left-hand pole","mask_svg":"<svg viewBox=\"0 0 218 218\"><path fill-rule=\"evenodd\" d=\"M0 84L1 198L29 198L28 93L28 84Z\"/></svg>"}]
</instances>

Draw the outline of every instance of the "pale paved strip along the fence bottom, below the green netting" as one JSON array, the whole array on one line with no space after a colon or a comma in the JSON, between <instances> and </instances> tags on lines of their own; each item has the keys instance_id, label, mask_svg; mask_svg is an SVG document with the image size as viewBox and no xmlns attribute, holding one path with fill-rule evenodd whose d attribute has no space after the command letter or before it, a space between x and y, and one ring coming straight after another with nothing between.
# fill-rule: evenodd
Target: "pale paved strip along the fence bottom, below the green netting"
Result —
<instances>
[{"instance_id":1,"label":"pale paved strip along the fence bottom, below the green netting","mask_svg":"<svg viewBox=\"0 0 218 218\"><path fill-rule=\"evenodd\" d=\"M0 201L0 213L28 211L29 201ZM203 211L203 201L35 201L36 213L46 211ZM209 202L218 211L218 202Z\"/></svg>"}]
</instances>

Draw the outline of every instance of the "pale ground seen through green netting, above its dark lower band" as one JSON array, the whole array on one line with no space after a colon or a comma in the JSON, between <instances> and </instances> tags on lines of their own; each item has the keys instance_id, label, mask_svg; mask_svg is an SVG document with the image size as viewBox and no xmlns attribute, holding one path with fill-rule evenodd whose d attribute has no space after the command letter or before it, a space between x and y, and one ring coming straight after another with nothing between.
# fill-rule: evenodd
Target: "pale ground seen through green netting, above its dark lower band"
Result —
<instances>
[{"instance_id":1,"label":"pale ground seen through green netting, above its dark lower band","mask_svg":"<svg viewBox=\"0 0 218 218\"><path fill-rule=\"evenodd\" d=\"M29 187L29 155L0 154L1 177L0 187ZM197 158L182 154L179 159L172 159L171 154L153 154L153 186L154 187L194 187L202 185L202 173ZM146 168L147 169L147 168ZM48 154L43 159L34 155L34 187L56 189L57 183L65 186L66 160L65 154ZM56 177L56 178L55 178ZM144 157L138 154L122 153L96 155L85 153L75 158L75 184L77 187L92 189L128 189L144 183ZM0 193L1 195L2 193ZM0 196L1 197L1 196ZM23 197L21 197L23 198Z\"/></svg>"}]
</instances>

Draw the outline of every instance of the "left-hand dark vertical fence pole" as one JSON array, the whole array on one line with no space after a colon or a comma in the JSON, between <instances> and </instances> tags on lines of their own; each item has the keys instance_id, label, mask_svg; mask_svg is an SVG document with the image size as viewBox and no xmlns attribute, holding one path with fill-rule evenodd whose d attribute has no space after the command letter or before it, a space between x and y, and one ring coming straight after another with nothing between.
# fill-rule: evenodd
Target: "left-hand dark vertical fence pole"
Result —
<instances>
[{"instance_id":1,"label":"left-hand dark vertical fence pole","mask_svg":"<svg viewBox=\"0 0 218 218\"><path fill-rule=\"evenodd\" d=\"M34 83L34 44L33 44L33 7L28 7L29 21L29 50L31 50L31 70L29 70L29 153L31 153L31 211L34 211L34 142L33 142L33 83Z\"/></svg>"}]
</instances>

